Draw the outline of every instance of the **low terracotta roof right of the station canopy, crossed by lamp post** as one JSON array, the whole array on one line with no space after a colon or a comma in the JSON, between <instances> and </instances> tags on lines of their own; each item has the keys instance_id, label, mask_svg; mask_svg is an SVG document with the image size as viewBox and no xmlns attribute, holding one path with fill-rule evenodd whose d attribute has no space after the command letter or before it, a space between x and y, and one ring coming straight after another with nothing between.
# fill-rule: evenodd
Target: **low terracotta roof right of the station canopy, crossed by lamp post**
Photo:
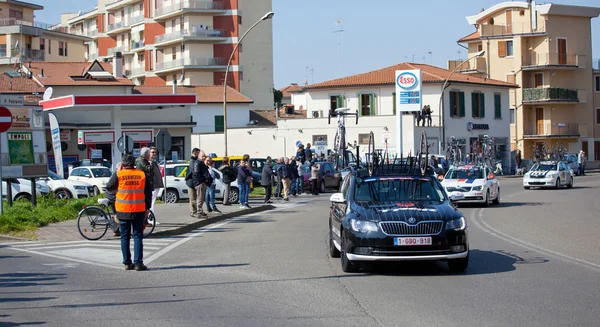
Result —
<instances>
[{"instance_id":1,"label":"low terracotta roof right of the station canopy, crossed by lamp post","mask_svg":"<svg viewBox=\"0 0 600 327\"><path fill-rule=\"evenodd\" d=\"M133 88L134 94L171 94L171 85L139 85ZM177 93L197 94L198 103L222 103L223 86L221 85L193 85L178 86ZM253 103L252 99L246 97L235 89L227 88L227 103Z\"/></svg>"}]
</instances>

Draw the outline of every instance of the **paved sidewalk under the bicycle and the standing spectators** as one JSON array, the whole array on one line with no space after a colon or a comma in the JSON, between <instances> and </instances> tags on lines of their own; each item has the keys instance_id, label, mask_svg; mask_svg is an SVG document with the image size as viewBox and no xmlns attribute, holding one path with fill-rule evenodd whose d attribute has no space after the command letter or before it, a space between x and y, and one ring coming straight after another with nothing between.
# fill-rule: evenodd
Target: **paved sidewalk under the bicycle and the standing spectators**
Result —
<instances>
[{"instance_id":1,"label":"paved sidewalk under the bicycle and the standing spectators","mask_svg":"<svg viewBox=\"0 0 600 327\"><path fill-rule=\"evenodd\" d=\"M187 202L177 204L157 204L156 220L158 221L158 224L150 237L180 235L221 220L275 208L273 205L263 205L262 199L251 198L249 199L249 202L250 209L240 209L239 204L223 206L220 203L217 203L217 208L221 210L222 213L207 213L207 219L190 217L189 204ZM114 237L112 231L109 229L102 239L109 240L114 238L118 237ZM51 224L38 229L38 241L41 242L81 240L84 240L84 238L79 234L77 229L77 219Z\"/></svg>"}]
</instances>

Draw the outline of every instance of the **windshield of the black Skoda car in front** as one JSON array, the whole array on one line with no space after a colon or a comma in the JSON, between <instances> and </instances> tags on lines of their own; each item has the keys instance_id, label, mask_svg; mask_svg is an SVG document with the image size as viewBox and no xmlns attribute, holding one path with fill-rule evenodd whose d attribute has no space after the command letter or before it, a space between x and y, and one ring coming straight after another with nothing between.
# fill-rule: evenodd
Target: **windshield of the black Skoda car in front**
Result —
<instances>
[{"instance_id":1,"label":"windshield of the black Skoda car in front","mask_svg":"<svg viewBox=\"0 0 600 327\"><path fill-rule=\"evenodd\" d=\"M444 201L444 192L428 177L370 177L357 181L357 202Z\"/></svg>"}]
</instances>

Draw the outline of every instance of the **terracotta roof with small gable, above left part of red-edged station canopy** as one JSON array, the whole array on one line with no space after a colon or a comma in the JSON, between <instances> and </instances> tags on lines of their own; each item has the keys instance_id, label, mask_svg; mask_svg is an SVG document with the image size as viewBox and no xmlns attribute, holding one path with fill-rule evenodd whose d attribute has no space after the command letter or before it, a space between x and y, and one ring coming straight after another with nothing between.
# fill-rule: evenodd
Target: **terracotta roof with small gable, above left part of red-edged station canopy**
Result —
<instances>
[{"instance_id":1,"label":"terracotta roof with small gable, above left part of red-edged station canopy","mask_svg":"<svg viewBox=\"0 0 600 327\"><path fill-rule=\"evenodd\" d=\"M99 62L102 68L112 73L112 65L106 62ZM91 67L89 62L31 62L27 63L28 69L33 73L34 78L42 83L44 86L58 86L58 85L73 85L73 86L89 86L89 85L123 85L133 86L135 85L129 79L114 78L110 80L74 80L71 76L83 76L85 72ZM42 76L42 70L44 75Z\"/></svg>"}]
</instances>

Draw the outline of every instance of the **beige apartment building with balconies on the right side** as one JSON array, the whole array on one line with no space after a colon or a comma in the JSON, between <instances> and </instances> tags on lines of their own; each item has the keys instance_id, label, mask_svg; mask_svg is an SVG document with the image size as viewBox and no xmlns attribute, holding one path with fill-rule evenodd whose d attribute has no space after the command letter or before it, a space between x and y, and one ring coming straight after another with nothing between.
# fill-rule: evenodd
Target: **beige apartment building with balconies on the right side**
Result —
<instances>
[{"instance_id":1,"label":"beige apartment building with balconies on the right side","mask_svg":"<svg viewBox=\"0 0 600 327\"><path fill-rule=\"evenodd\" d=\"M598 15L595 7L511 1L466 17L477 30L458 43L471 59L448 68L520 86L510 94L510 142L524 158L540 144L583 149L598 160L591 44Z\"/></svg>"}]
</instances>

